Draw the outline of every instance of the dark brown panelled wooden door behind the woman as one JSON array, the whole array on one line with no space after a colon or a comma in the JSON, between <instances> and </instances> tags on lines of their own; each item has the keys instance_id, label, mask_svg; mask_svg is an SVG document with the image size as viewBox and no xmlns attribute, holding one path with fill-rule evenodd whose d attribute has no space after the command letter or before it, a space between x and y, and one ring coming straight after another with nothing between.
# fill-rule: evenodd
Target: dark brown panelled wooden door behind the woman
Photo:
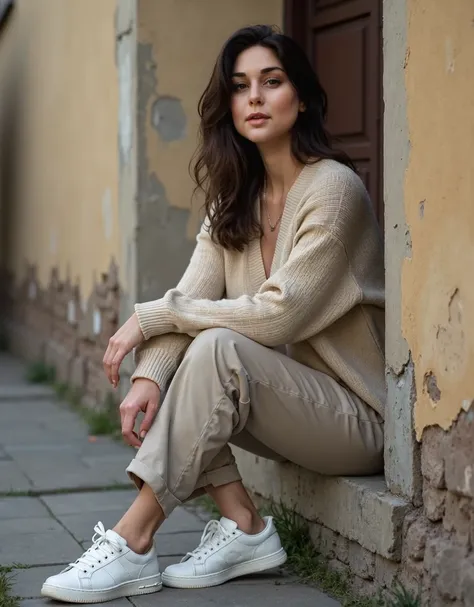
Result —
<instances>
[{"instance_id":1,"label":"dark brown panelled wooden door behind the woman","mask_svg":"<svg viewBox=\"0 0 474 607\"><path fill-rule=\"evenodd\" d=\"M307 52L328 95L328 130L383 225L382 0L286 0L285 29Z\"/></svg>"}]
</instances>

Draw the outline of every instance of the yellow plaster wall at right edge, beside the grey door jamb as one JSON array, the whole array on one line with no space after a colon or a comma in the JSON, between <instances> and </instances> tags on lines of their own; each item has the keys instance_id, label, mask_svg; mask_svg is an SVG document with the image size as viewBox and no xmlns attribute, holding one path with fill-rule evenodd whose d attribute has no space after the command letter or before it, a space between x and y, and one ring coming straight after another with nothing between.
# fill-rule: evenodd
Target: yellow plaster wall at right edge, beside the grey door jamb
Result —
<instances>
[{"instance_id":1,"label":"yellow plaster wall at right edge, beside the grey door jamb","mask_svg":"<svg viewBox=\"0 0 474 607\"><path fill-rule=\"evenodd\" d=\"M432 424L448 428L474 399L474 6L407 0L407 8L412 257L402 324L420 437Z\"/></svg>"}]
</instances>

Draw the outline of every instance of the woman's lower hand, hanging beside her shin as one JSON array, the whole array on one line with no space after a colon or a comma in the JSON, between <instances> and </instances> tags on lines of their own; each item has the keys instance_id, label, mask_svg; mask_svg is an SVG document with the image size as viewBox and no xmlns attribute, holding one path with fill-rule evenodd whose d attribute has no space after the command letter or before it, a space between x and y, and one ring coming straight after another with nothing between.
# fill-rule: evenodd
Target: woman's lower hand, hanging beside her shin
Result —
<instances>
[{"instance_id":1,"label":"woman's lower hand, hanging beside her shin","mask_svg":"<svg viewBox=\"0 0 474 607\"><path fill-rule=\"evenodd\" d=\"M122 436L132 447L140 447L145 434L151 428L160 404L160 388L151 379L138 378L120 405ZM135 421L140 411L145 413L138 434L134 432Z\"/></svg>"}]
</instances>

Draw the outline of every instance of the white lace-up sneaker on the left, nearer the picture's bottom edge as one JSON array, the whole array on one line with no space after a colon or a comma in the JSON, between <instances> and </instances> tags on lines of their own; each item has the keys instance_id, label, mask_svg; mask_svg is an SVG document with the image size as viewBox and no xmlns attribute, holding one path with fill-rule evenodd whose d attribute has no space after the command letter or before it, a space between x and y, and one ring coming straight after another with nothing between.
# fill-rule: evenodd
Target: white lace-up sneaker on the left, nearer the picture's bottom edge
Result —
<instances>
[{"instance_id":1,"label":"white lace-up sneaker on the left, nearer the picture's bottom edge","mask_svg":"<svg viewBox=\"0 0 474 607\"><path fill-rule=\"evenodd\" d=\"M130 550L127 542L104 525L94 527L92 546L74 563L43 584L41 594L68 603L101 603L161 590L155 546L147 554Z\"/></svg>"}]
</instances>

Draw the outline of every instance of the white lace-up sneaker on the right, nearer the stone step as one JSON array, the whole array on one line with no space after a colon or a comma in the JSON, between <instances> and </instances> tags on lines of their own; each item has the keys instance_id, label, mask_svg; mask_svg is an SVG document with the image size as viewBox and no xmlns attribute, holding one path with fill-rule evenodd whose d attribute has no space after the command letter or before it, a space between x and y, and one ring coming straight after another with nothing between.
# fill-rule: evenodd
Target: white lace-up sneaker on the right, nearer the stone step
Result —
<instances>
[{"instance_id":1,"label":"white lace-up sneaker on the right, nearer the stone step","mask_svg":"<svg viewBox=\"0 0 474 607\"><path fill-rule=\"evenodd\" d=\"M210 521L201 543L163 572L163 584L173 588L217 586L241 575L258 573L283 565L286 552L271 516L265 517L265 529L247 535L227 518Z\"/></svg>"}]
</instances>

